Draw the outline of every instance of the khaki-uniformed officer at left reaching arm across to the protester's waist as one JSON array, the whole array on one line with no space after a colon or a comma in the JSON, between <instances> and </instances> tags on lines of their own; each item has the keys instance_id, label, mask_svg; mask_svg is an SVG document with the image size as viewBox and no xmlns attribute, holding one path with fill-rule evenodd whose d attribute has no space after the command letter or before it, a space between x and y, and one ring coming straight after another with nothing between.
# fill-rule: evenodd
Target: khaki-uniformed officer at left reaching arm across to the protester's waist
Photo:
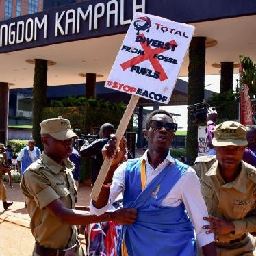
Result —
<instances>
[{"instance_id":1,"label":"khaki-uniformed officer at left reaching arm across to the protester's waist","mask_svg":"<svg viewBox=\"0 0 256 256\"><path fill-rule=\"evenodd\" d=\"M77 135L67 119L47 119L40 125L44 151L21 180L36 240L33 255L84 255L77 242L76 225L107 220L132 224L136 210L120 209L97 217L83 211L83 207L75 209L77 188L72 175L75 166L68 157Z\"/></svg>"}]
</instances>

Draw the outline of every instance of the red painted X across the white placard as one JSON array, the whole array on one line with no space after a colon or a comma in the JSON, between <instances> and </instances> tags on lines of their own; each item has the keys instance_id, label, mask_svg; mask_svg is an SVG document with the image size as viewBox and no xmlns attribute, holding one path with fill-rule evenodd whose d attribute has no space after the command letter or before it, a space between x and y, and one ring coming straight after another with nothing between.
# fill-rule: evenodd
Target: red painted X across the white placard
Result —
<instances>
[{"instance_id":1,"label":"red painted X across the white placard","mask_svg":"<svg viewBox=\"0 0 256 256\"><path fill-rule=\"evenodd\" d=\"M145 37L143 33L140 34L140 36L142 36L143 38ZM177 42L175 42L175 40L171 40L168 43L172 44L172 45L177 45ZM150 45L143 44L142 42L140 42L140 45L142 46L142 48L144 50L144 55L133 57L131 60L127 60L127 62L123 62L121 64L123 71L125 71L127 68L131 68L131 66L133 66L133 65L137 65L140 62L144 62L144 60L149 60L151 62L151 65L155 69L155 71L160 72L160 75L159 75L160 81L164 81L164 80L168 79L168 77L164 71L164 68L159 63L159 60L157 60L157 57L153 58L154 54L160 54L160 53L163 53L164 51L168 51L168 50L162 49L162 48L157 48L157 47L155 49L152 49Z\"/></svg>"}]
</instances>

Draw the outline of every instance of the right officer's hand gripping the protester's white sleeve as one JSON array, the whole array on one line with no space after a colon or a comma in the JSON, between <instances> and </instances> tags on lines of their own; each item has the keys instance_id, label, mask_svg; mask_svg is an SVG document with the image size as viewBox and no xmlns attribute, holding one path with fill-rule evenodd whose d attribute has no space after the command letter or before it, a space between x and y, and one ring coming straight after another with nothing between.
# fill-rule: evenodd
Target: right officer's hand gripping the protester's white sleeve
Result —
<instances>
[{"instance_id":1,"label":"right officer's hand gripping the protester's white sleeve","mask_svg":"<svg viewBox=\"0 0 256 256\"><path fill-rule=\"evenodd\" d=\"M231 221L216 218L214 216L209 218L203 217L203 219L210 222L210 225L203 226L203 229L209 229L206 233L214 233L216 240L218 240L218 235L225 235L235 231L235 226Z\"/></svg>"}]
</instances>

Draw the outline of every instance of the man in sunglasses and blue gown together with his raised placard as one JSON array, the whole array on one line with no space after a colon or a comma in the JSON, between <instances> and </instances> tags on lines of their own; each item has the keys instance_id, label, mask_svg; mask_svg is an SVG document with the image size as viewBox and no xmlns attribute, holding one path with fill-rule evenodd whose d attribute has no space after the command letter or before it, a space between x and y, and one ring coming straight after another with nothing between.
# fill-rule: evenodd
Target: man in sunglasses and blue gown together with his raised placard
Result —
<instances>
[{"instance_id":1,"label":"man in sunglasses and blue gown together with his raised placard","mask_svg":"<svg viewBox=\"0 0 256 256\"><path fill-rule=\"evenodd\" d=\"M126 152L116 150L119 144L125 148L121 138L139 97L170 101L193 34L192 25L136 13L106 80L105 87L132 94L116 136L103 148L107 157L90 196L91 211L97 215L120 193L124 207L138 211L134 225L122 228L118 253L124 238L126 255L196 255L194 229L205 255L216 253L214 235L202 228L209 223L203 220L207 208L196 173L170 156L177 129L172 116L164 110L149 115L144 132L149 150L141 158L118 167Z\"/></svg>"}]
</instances>

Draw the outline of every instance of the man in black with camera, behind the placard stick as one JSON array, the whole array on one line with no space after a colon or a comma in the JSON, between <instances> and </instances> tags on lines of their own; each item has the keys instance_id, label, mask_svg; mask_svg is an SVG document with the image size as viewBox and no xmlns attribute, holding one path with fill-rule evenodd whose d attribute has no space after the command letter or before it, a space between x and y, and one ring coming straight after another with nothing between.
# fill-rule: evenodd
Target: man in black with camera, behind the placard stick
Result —
<instances>
[{"instance_id":1,"label":"man in black with camera, behind the placard stick","mask_svg":"<svg viewBox=\"0 0 256 256\"><path fill-rule=\"evenodd\" d=\"M94 140L92 144L85 143L81 146L80 155L82 157L91 157L92 160L92 185L94 185L103 164L101 149L107 144L112 133L115 133L114 126L110 123L104 123L99 131L99 139Z\"/></svg>"}]
</instances>

